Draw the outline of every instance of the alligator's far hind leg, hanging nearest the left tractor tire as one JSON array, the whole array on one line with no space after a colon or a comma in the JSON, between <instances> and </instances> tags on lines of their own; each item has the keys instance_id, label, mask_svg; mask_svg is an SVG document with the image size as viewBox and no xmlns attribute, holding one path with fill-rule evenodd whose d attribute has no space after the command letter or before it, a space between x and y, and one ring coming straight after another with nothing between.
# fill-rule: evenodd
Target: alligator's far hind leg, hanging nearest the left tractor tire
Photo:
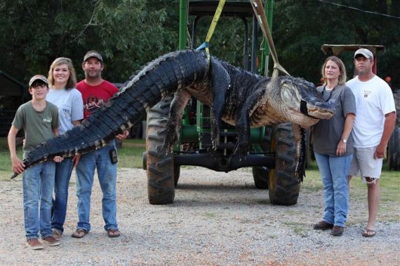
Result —
<instances>
[{"instance_id":1,"label":"alligator's far hind leg, hanging nearest the left tractor tire","mask_svg":"<svg viewBox=\"0 0 400 266\"><path fill-rule=\"evenodd\" d=\"M186 90L175 92L169 109L168 120L166 123L166 139L164 140L164 151L169 153L179 140L180 123L183 112L191 95Z\"/></svg>"}]
</instances>

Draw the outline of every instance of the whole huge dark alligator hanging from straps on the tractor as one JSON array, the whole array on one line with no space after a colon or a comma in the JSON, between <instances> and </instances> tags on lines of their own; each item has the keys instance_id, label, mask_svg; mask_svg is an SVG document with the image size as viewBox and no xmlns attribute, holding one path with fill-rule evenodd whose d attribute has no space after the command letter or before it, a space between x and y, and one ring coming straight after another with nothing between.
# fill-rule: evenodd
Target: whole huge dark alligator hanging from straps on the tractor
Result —
<instances>
[{"instance_id":1,"label":"whole huge dark alligator hanging from straps on the tractor","mask_svg":"<svg viewBox=\"0 0 400 266\"><path fill-rule=\"evenodd\" d=\"M28 153L25 167L57 155L72 157L104 146L174 92L166 128L171 133L167 134L167 151L178 140L182 110L191 96L211 106L214 148L218 146L221 120L225 120L236 127L239 133L236 151L243 156L248 151L250 127L290 121L301 158L304 151L301 127L329 119L335 112L314 85L302 78L265 78L208 57L203 51L180 50L149 62L81 125ZM302 178L304 173L298 174Z\"/></svg>"}]
</instances>

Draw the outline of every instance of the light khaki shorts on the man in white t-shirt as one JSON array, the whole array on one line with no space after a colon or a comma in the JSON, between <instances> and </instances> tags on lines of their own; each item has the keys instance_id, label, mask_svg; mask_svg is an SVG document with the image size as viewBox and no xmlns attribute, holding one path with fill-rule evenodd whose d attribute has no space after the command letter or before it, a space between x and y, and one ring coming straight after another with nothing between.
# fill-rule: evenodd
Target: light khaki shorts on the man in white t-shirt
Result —
<instances>
[{"instance_id":1,"label":"light khaki shorts on the man in white t-shirt","mask_svg":"<svg viewBox=\"0 0 400 266\"><path fill-rule=\"evenodd\" d=\"M349 176L359 176L366 181L366 177L371 179L379 179L382 173L383 158L374 159L376 147L371 148L355 148L353 160L349 169Z\"/></svg>"}]
</instances>

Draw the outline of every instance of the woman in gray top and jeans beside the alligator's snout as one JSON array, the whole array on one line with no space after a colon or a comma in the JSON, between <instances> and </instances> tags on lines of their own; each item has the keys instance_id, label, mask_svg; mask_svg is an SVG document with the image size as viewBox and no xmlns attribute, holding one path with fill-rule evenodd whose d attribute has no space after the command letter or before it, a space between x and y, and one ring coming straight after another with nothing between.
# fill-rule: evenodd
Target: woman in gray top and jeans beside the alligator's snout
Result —
<instances>
[{"instance_id":1,"label":"woman in gray top and jeans beside the alligator's snout","mask_svg":"<svg viewBox=\"0 0 400 266\"><path fill-rule=\"evenodd\" d=\"M335 103L330 120L314 126L314 154L324 185L325 211L315 230L331 229L331 235L343 234L349 209L347 173L352 162L352 127L356 113L354 94L345 86L346 69L342 60L331 56L321 69L324 84L317 87L326 102Z\"/></svg>"}]
</instances>

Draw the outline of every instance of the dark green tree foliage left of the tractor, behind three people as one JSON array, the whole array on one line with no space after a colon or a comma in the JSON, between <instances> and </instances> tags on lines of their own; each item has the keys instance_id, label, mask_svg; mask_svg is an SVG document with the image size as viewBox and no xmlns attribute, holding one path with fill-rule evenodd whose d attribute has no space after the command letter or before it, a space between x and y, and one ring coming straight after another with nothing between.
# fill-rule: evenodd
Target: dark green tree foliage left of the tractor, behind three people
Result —
<instances>
[{"instance_id":1,"label":"dark green tree foliage left of the tractor, behind three people","mask_svg":"<svg viewBox=\"0 0 400 266\"><path fill-rule=\"evenodd\" d=\"M3 1L0 70L27 80L46 74L53 59L64 56L83 78L85 52L99 50L105 78L121 82L144 62L176 49L178 26L171 27L179 23L178 6L178 0Z\"/></svg>"}]
</instances>

